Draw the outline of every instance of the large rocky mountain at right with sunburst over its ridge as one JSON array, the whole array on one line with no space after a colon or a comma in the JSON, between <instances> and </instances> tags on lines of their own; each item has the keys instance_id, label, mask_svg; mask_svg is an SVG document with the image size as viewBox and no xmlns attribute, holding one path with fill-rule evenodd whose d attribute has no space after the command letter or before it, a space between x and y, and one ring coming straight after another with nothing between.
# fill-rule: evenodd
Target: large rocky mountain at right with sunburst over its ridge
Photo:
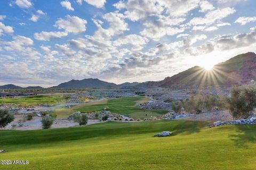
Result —
<instances>
[{"instance_id":1,"label":"large rocky mountain at right with sunburst over its ridge","mask_svg":"<svg viewBox=\"0 0 256 170\"><path fill-rule=\"evenodd\" d=\"M219 63L211 71L195 66L167 77L151 86L167 88L201 88L210 86L234 86L250 84L256 80L256 54L246 53Z\"/></svg>"}]
</instances>

